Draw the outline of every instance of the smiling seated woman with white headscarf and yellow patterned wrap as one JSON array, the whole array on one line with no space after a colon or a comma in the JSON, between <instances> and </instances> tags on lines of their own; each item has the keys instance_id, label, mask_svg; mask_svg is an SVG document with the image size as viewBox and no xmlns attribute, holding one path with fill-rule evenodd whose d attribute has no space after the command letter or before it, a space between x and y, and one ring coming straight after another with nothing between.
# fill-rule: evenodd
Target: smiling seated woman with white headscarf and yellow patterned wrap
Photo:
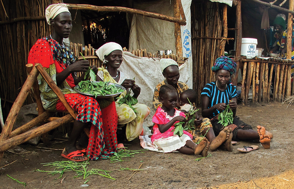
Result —
<instances>
[{"instance_id":1,"label":"smiling seated woman with white headscarf and yellow patterned wrap","mask_svg":"<svg viewBox=\"0 0 294 189\"><path fill-rule=\"evenodd\" d=\"M121 45L115 42L106 43L96 51L96 54L106 64L106 69L103 67L98 68L97 75L100 79L120 84L127 89L116 101L116 113L118 115L118 125L126 124L126 127L123 127L126 129L126 139L131 141L137 138L142 132L143 121L149 115L150 109L145 104L139 103L132 105L133 108L130 108L126 104L118 104L119 99L126 96L128 90L133 91L134 98L138 98L141 92L141 88L135 84L133 79L130 79L127 74L118 70L123 61L123 49ZM136 113L134 110L136 110Z\"/></svg>"}]
</instances>

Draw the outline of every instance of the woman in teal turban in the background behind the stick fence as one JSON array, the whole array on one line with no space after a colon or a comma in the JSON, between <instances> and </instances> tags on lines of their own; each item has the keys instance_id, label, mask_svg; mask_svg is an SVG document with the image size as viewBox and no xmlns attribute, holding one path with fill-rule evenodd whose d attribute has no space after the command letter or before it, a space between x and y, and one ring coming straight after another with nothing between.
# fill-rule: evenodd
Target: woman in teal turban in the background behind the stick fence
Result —
<instances>
[{"instance_id":1,"label":"woman in teal turban in the background behind the stick fence","mask_svg":"<svg viewBox=\"0 0 294 189\"><path fill-rule=\"evenodd\" d=\"M287 55L287 30L286 22L282 17L276 17L274 20L275 38L277 45L270 50L270 53L279 51L282 59L286 59ZM294 51L291 51L291 59L294 59Z\"/></svg>"}]
</instances>

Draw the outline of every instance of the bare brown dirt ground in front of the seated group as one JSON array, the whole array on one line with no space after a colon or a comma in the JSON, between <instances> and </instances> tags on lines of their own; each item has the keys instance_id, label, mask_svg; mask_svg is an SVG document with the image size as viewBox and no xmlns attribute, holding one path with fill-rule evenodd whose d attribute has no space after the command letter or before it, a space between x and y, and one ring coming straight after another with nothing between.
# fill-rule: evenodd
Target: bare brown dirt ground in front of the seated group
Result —
<instances>
[{"instance_id":1,"label":"bare brown dirt ground in front of the seated group","mask_svg":"<svg viewBox=\"0 0 294 189\"><path fill-rule=\"evenodd\" d=\"M92 175L88 177L86 188L294 188L293 109L294 107L287 108L280 103L238 106L237 115L241 120L252 125L255 130L257 125L262 125L273 133L274 139L268 150L256 142L238 142L234 145L233 152L210 152L211 157L200 161L195 159L201 156L162 154L153 151L135 154L134 157L128 158L129 161L119 163L111 163L109 159L90 161L90 169L110 170L110 175L116 180ZM64 145L65 143L56 143L48 148L63 149ZM237 148L243 145L259 145L259 149L249 153L239 152ZM126 143L125 146L130 150L142 149L139 139ZM66 172L62 178L58 178L59 175L50 176L34 171L53 170L42 163L65 161L60 156L61 150L38 148L45 147L43 144L39 144L38 147L23 144L20 147L31 153L4 153L0 167L17 161L0 168L0 188L24 187L6 176L7 174L26 182L26 188L83 188L87 179L74 178L74 172ZM141 169L144 170L136 172L133 176L129 170L116 171L119 165L125 168L138 168L141 164Z\"/></svg>"}]
</instances>

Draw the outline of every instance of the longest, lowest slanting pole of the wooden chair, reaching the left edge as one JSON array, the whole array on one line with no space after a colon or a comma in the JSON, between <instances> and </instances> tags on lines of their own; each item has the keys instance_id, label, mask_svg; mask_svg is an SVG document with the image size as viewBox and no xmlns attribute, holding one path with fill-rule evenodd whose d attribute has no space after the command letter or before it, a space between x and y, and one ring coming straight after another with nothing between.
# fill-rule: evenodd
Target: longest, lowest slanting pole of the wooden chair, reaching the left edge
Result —
<instances>
[{"instance_id":1,"label":"longest, lowest slanting pole of the wooden chair, reaching the left edge","mask_svg":"<svg viewBox=\"0 0 294 189\"><path fill-rule=\"evenodd\" d=\"M60 125L63 125L72 120L74 120L74 118L70 114L68 114L58 120L51 121L49 123L46 123L45 125L29 130L16 137L7 139L0 143L0 153L3 153L4 151L8 149L16 147L19 144L22 144L30 139L40 136L43 133L51 131L52 129L55 129L56 127L59 127Z\"/></svg>"}]
</instances>

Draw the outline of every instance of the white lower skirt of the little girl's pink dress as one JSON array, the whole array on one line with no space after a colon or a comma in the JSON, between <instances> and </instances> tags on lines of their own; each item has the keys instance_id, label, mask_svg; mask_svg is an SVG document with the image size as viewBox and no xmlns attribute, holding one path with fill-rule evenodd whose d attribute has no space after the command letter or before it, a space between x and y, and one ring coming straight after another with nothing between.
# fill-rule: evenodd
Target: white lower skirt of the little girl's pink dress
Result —
<instances>
[{"instance_id":1,"label":"white lower skirt of the little girl's pink dress","mask_svg":"<svg viewBox=\"0 0 294 189\"><path fill-rule=\"evenodd\" d=\"M153 147L163 149L164 153L168 153L185 146L187 140L191 140L187 134L183 134L181 137L174 135L167 138L159 138L153 141Z\"/></svg>"}]
</instances>

